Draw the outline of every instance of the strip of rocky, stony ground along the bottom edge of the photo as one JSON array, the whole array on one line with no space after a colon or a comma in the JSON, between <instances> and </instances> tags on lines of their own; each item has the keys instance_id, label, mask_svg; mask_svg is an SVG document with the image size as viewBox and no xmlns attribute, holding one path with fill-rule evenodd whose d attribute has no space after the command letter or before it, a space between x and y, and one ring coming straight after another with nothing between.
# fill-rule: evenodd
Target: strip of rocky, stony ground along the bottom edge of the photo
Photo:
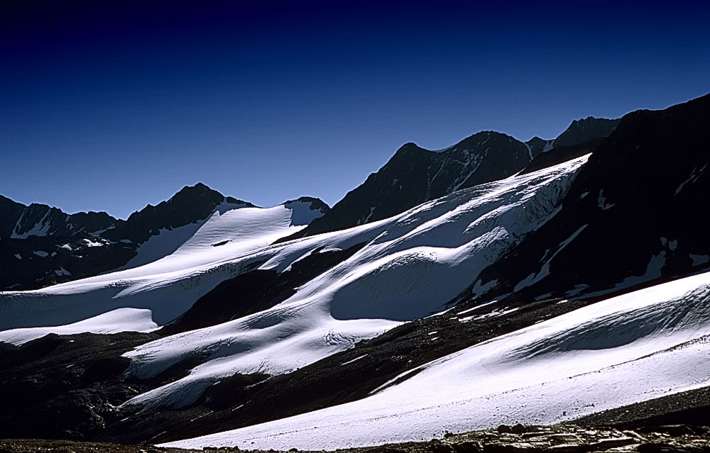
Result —
<instances>
[{"instance_id":1,"label":"strip of rocky, stony ground along the bottom edge of the photo","mask_svg":"<svg viewBox=\"0 0 710 453\"><path fill-rule=\"evenodd\" d=\"M0 453L187 453L236 452L239 448L187 450L153 446L99 444L68 440L0 440ZM290 452L295 452L291 449ZM621 430L579 425L506 426L454 435L441 439L405 442L377 447L337 450L343 453L476 453L476 452L710 452L710 427L662 425ZM273 452L273 450L270 450Z\"/></svg>"}]
</instances>

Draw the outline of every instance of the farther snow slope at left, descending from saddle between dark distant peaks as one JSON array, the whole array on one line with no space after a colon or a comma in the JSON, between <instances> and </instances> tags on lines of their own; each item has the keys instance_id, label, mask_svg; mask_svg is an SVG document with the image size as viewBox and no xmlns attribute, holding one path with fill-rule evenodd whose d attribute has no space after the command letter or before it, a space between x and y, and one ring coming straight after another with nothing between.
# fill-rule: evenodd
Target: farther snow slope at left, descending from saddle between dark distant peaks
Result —
<instances>
[{"instance_id":1,"label":"farther snow slope at left, descending from saddle between dark distant peaks","mask_svg":"<svg viewBox=\"0 0 710 453\"><path fill-rule=\"evenodd\" d=\"M240 272L239 263L224 267L224 262L263 249L303 228L305 225L294 225L293 218L303 218L305 209L301 204L292 208L219 206L204 222L151 237L143 245L148 248L144 253L162 255L170 248L175 251L148 264L36 291L0 293L0 329L67 324L85 329L89 323L76 323L124 307L147 308L155 323L163 325L184 313L220 281ZM136 259L143 259L140 251ZM119 318L114 316L114 320ZM123 330L143 329L142 321L133 325L133 320L126 318ZM82 331L94 330L74 332ZM27 332L23 338L32 340L46 332L36 330L34 336ZM10 341L7 335L0 332L0 341Z\"/></svg>"}]
</instances>

